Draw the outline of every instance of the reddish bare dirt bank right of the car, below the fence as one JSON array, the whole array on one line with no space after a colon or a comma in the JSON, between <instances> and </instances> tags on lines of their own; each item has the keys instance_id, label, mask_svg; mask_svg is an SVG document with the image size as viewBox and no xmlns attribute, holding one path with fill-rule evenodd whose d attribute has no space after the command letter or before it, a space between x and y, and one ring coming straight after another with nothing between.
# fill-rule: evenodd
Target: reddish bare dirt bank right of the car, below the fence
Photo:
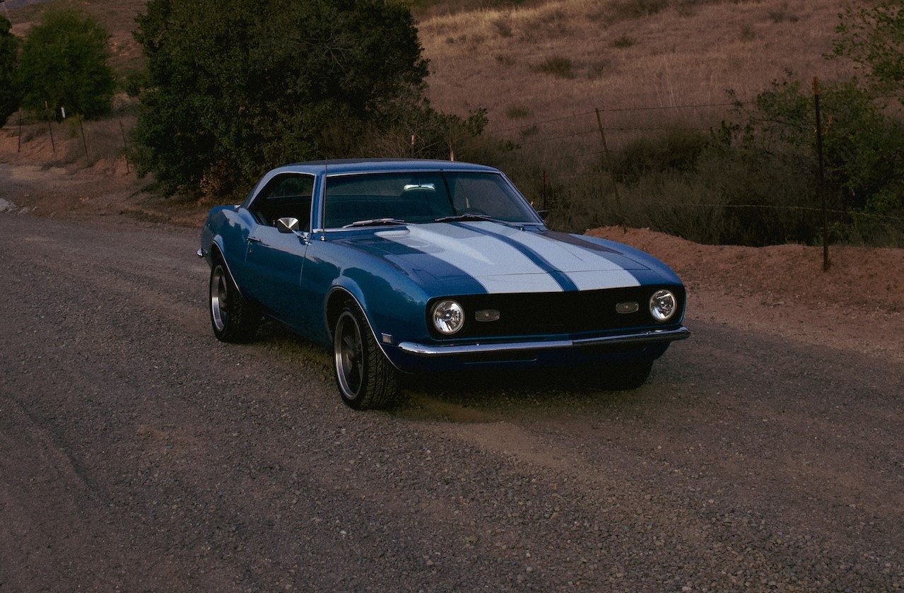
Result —
<instances>
[{"instance_id":1,"label":"reddish bare dirt bank right of the car, below the fence","mask_svg":"<svg viewBox=\"0 0 904 593\"><path fill-rule=\"evenodd\" d=\"M688 315L904 360L904 249L699 245L646 229L589 235L643 249L688 289Z\"/></svg>"}]
</instances>

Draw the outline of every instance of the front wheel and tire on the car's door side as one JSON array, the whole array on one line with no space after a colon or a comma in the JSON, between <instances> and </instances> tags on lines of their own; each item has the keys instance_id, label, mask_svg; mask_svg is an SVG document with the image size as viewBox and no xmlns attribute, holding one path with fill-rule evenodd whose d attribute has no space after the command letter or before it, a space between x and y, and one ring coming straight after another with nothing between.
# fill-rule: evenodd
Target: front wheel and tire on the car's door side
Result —
<instances>
[{"instance_id":1,"label":"front wheel and tire on the car's door side","mask_svg":"<svg viewBox=\"0 0 904 593\"><path fill-rule=\"evenodd\" d=\"M352 409L385 409L399 393L399 373L377 344L361 308L347 302L333 331L336 385Z\"/></svg>"}]
</instances>

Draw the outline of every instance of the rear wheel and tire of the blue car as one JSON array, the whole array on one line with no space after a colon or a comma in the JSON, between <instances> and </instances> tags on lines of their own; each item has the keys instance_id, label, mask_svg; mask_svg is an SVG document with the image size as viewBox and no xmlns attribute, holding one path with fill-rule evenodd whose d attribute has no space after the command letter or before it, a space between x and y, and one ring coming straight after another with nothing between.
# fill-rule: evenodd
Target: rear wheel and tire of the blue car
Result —
<instances>
[{"instance_id":1,"label":"rear wheel and tire of the blue car","mask_svg":"<svg viewBox=\"0 0 904 593\"><path fill-rule=\"evenodd\" d=\"M213 334L221 342L249 342L258 331L259 308L241 295L220 259L211 268L210 312Z\"/></svg>"}]
</instances>

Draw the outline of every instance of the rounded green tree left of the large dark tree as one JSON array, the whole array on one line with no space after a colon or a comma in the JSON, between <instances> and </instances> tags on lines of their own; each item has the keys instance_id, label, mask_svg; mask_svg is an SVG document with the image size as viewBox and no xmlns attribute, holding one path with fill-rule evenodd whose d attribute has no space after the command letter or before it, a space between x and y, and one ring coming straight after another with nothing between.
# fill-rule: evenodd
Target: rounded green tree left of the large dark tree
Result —
<instances>
[{"instance_id":1,"label":"rounded green tree left of the large dark tree","mask_svg":"<svg viewBox=\"0 0 904 593\"><path fill-rule=\"evenodd\" d=\"M25 38L18 80L24 108L66 108L88 118L108 113L115 78L108 33L87 14L51 8Z\"/></svg>"}]
</instances>

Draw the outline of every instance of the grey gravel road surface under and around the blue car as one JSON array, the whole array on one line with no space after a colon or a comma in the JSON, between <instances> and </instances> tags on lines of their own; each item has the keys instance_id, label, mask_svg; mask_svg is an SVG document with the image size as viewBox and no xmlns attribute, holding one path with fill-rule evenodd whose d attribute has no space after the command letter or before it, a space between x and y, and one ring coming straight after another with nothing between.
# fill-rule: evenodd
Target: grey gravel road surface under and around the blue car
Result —
<instances>
[{"instance_id":1,"label":"grey gravel road surface under and around the blue car","mask_svg":"<svg viewBox=\"0 0 904 593\"><path fill-rule=\"evenodd\" d=\"M0 592L904 587L904 360L857 320L726 291L637 391L356 413L310 344L213 338L196 238L0 213Z\"/></svg>"}]
</instances>

